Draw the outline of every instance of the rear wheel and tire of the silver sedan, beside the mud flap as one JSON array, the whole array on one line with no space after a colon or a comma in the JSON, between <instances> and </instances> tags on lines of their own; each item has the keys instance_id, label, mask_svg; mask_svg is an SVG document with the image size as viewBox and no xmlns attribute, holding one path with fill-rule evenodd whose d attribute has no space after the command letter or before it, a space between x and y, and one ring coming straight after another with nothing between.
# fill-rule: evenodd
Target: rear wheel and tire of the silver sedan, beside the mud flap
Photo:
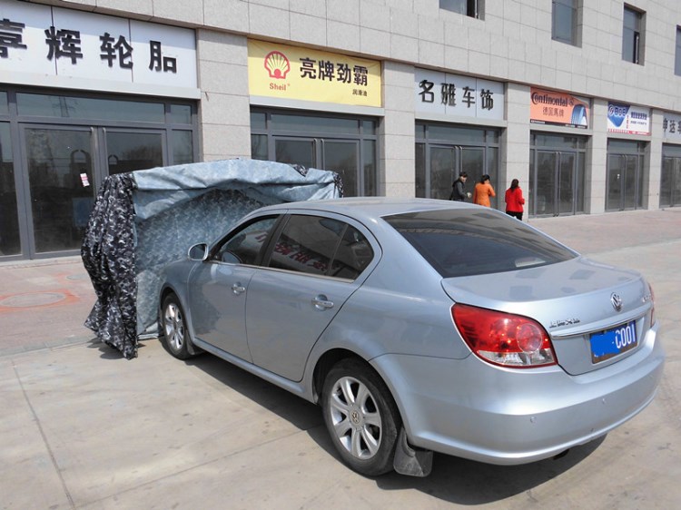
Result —
<instances>
[{"instance_id":1,"label":"rear wheel and tire of the silver sedan, beside the mud flap","mask_svg":"<svg viewBox=\"0 0 681 510\"><path fill-rule=\"evenodd\" d=\"M321 407L331 442L348 466L365 476L392 471L400 412L373 368L356 358L340 361L324 381Z\"/></svg>"}]
</instances>

